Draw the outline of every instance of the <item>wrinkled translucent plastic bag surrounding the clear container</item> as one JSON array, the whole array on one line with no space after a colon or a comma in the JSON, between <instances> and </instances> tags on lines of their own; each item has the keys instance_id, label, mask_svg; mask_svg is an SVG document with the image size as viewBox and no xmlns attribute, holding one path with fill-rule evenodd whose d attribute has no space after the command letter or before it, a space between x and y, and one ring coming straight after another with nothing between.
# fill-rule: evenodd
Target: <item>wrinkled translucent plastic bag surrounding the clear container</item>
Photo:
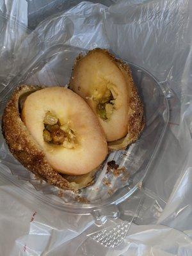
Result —
<instances>
[{"instance_id":1,"label":"wrinkled translucent plastic bag surrounding the clear container","mask_svg":"<svg viewBox=\"0 0 192 256\"><path fill-rule=\"evenodd\" d=\"M190 1L184 0L118 1L110 7L83 2L47 18L32 32L45 49L60 42L84 49L109 48L147 69L172 90L171 118L159 159L140 191L120 204L119 218L102 227L94 224L91 215L67 214L25 196L22 186L1 177L3 255L192 254L191 10ZM1 29L1 60L6 51L12 64L0 70L4 84L38 53L39 41L19 55L17 42L28 35L24 28L21 34L14 33L12 26L17 28L17 23L12 23L4 23ZM14 36L6 40L10 35ZM128 228L115 248L95 239L100 234L108 237L119 225Z\"/></svg>"}]
</instances>

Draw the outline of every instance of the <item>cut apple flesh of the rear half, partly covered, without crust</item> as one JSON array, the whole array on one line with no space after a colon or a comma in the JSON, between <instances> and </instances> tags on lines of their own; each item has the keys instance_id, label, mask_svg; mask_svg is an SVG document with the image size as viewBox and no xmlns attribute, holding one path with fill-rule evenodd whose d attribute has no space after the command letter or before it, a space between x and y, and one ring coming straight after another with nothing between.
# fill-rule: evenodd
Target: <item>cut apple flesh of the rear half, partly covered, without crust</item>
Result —
<instances>
[{"instance_id":1,"label":"cut apple flesh of the rear half, partly covered, without crust","mask_svg":"<svg viewBox=\"0 0 192 256\"><path fill-rule=\"evenodd\" d=\"M98 116L108 141L127 134L128 90L125 77L108 52L95 49L78 58L70 88Z\"/></svg>"}]
</instances>

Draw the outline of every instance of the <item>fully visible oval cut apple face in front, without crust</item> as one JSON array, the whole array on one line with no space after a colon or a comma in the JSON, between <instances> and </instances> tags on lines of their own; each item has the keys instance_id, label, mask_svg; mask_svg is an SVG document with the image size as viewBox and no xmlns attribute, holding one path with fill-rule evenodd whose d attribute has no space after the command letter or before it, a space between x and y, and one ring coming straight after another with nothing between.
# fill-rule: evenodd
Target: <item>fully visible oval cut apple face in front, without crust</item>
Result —
<instances>
[{"instance_id":1,"label":"fully visible oval cut apple face in front, without crust","mask_svg":"<svg viewBox=\"0 0 192 256\"><path fill-rule=\"evenodd\" d=\"M48 122L53 120L52 129L46 129L47 118ZM22 120L43 148L47 162L58 172L91 172L108 154L96 116L79 95L67 88L51 87L31 93L24 102ZM56 122L59 125L54 129ZM50 143L45 140L45 131L52 137Z\"/></svg>"}]
</instances>

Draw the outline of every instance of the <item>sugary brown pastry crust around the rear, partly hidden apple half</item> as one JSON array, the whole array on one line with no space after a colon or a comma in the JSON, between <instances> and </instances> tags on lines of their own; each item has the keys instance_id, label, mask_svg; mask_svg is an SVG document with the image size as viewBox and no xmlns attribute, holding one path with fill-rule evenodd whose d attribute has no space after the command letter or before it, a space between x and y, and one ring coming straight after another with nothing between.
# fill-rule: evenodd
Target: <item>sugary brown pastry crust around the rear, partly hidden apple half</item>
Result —
<instances>
[{"instance_id":1,"label":"sugary brown pastry crust around the rear, partly hidden apple half","mask_svg":"<svg viewBox=\"0 0 192 256\"><path fill-rule=\"evenodd\" d=\"M120 140L112 141L108 143L109 150L118 150L121 148L126 148L128 145L138 140L143 128L145 127L145 117L143 111L143 103L141 102L140 96L136 85L132 80L132 74L129 66L125 64L122 60L116 59L113 54L111 54L106 49L95 48L89 51L87 54L92 52L104 52L108 55L114 63L120 68L127 81L127 86L129 88L129 124L127 128L127 136ZM69 87L72 88L74 79L74 70L76 69L79 61L83 58L83 54L79 54L74 62L74 67L72 68L72 76L70 77Z\"/></svg>"}]
</instances>

